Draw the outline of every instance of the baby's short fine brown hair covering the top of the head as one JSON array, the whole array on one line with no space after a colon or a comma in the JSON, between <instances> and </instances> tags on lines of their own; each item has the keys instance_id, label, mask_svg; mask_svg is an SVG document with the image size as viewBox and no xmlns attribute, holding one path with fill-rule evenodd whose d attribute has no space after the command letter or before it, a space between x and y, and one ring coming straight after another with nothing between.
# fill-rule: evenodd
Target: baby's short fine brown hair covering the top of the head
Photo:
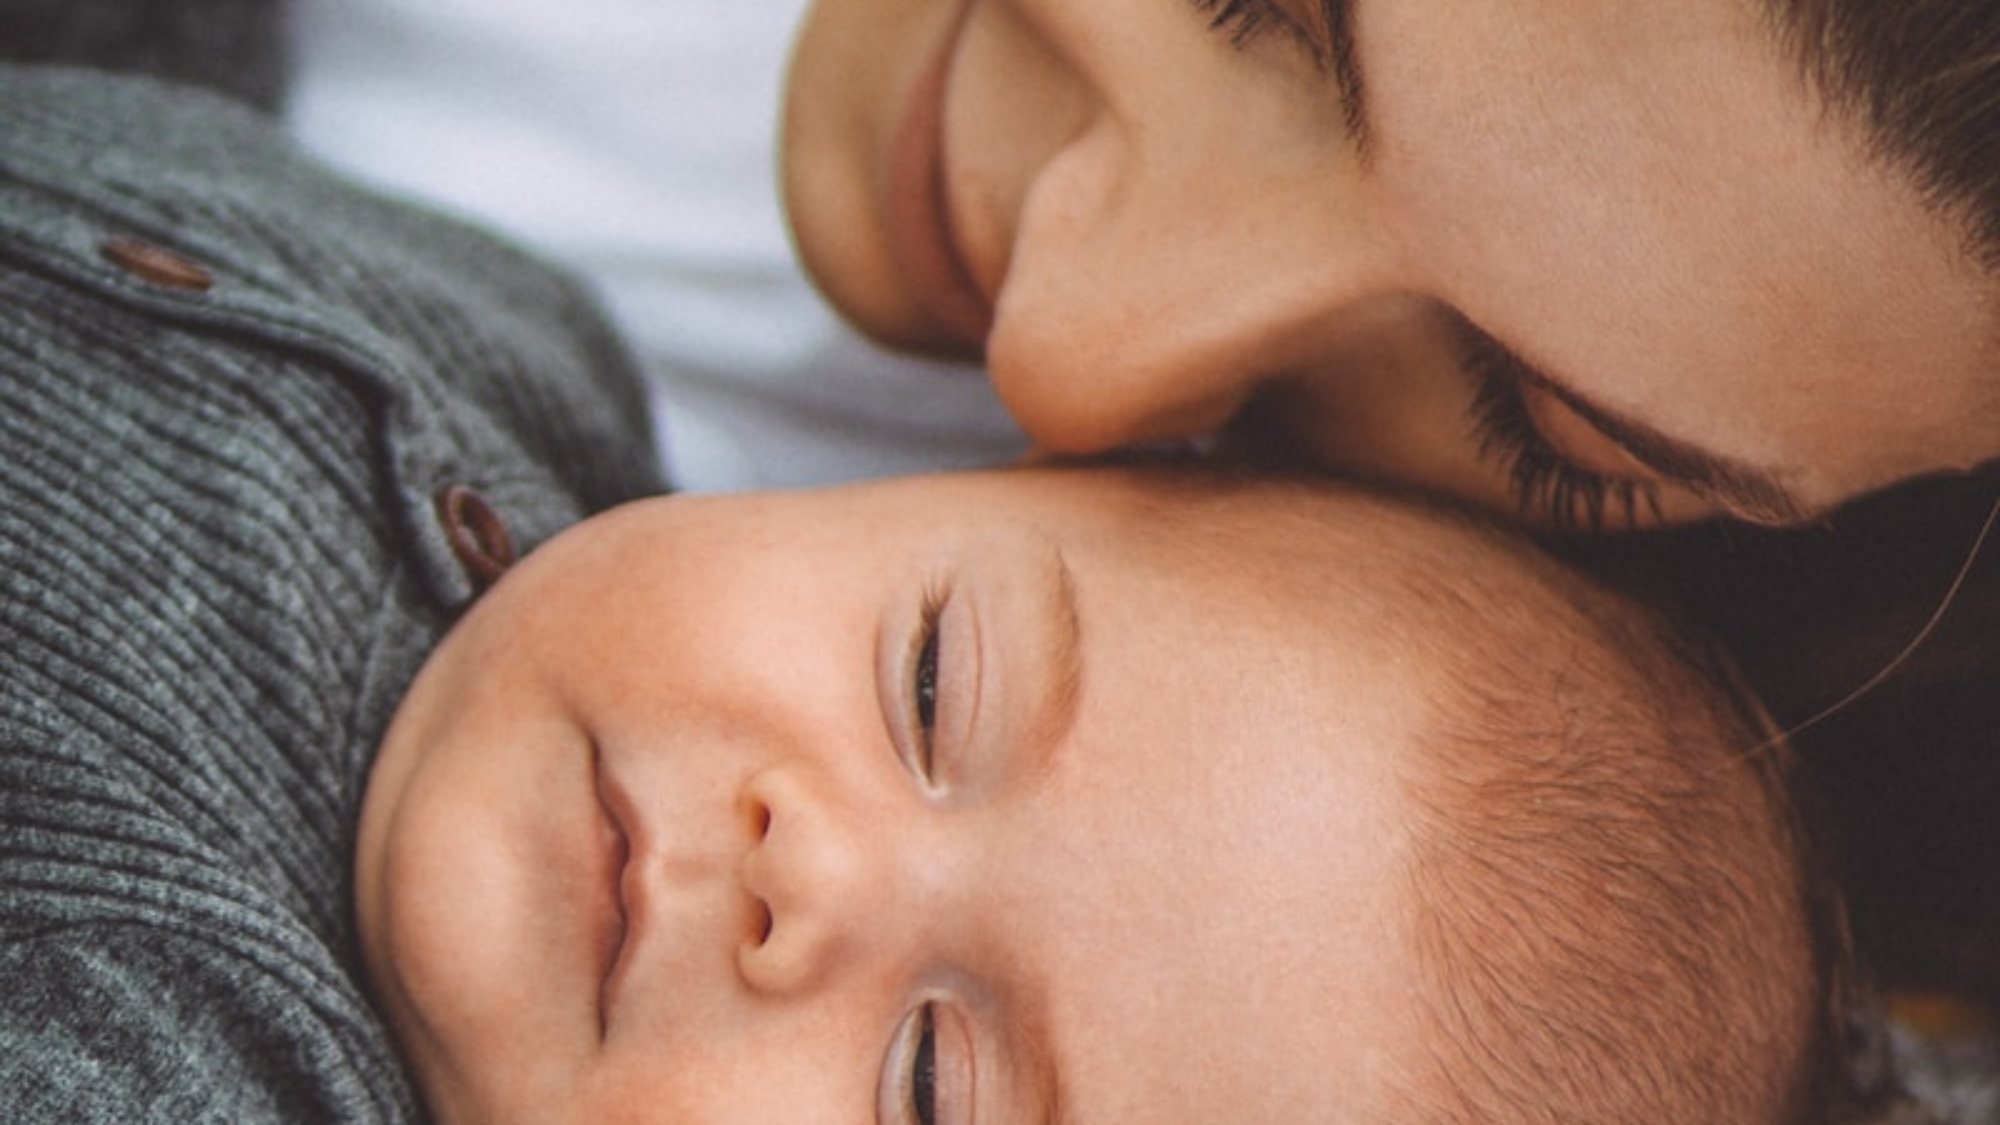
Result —
<instances>
[{"instance_id":1,"label":"baby's short fine brown hair covering the top of the head","mask_svg":"<svg viewBox=\"0 0 2000 1125\"><path fill-rule=\"evenodd\" d=\"M1496 548L1522 565L1400 571L1406 635L1448 669L1404 777L1430 1045L1410 1119L1868 1119L1890 1079L1856 1069L1790 749L1720 655Z\"/></svg>"}]
</instances>

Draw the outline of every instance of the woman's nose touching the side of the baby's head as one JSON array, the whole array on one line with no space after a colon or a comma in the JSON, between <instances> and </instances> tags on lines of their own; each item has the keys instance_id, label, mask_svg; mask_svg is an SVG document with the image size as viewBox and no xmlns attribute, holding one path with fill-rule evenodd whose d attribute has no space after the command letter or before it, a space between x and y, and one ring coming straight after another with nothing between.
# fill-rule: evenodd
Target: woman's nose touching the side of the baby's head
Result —
<instances>
[{"instance_id":1,"label":"woman's nose touching the side of the baby's head","mask_svg":"<svg viewBox=\"0 0 2000 1125\"><path fill-rule=\"evenodd\" d=\"M986 364L1036 444L1214 434L1268 384L1336 382L1344 356L1376 344L1376 308L1400 284L1390 250L1346 218L1284 222L1324 190L1268 188L1276 218L1188 194L1122 192L1090 230L1026 216Z\"/></svg>"}]
</instances>

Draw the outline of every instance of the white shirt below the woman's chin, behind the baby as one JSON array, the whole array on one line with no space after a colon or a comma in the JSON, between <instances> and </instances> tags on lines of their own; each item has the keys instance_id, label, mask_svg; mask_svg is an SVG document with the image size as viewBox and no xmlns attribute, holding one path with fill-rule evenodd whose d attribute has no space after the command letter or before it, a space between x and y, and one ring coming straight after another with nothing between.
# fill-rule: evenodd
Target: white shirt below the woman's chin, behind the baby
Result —
<instances>
[{"instance_id":1,"label":"white shirt below the woman's chin, behind the baby","mask_svg":"<svg viewBox=\"0 0 2000 1125\"><path fill-rule=\"evenodd\" d=\"M682 488L1018 456L978 368L874 348L798 268L776 122L804 2L302 0L288 120L596 284Z\"/></svg>"}]
</instances>

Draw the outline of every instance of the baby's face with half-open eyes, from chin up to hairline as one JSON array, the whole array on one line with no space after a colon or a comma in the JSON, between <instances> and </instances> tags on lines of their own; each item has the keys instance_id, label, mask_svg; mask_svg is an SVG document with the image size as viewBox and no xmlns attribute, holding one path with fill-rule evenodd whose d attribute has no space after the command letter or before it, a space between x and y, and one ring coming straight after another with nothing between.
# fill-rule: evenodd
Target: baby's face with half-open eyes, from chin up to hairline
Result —
<instances>
[{"instance_id":1,"label":"baby's face with half-open eyes, from chin up to hairline","mask_svg":"<svg viewBox=\"0 0 2000 1125\"><path fill-rule=\"evenodd\" d=\"M440 1119L1380 1117L1422 669L1368 589L1412 520L1260 496L676 496L530 556L362 819Z\"/></svg>"}]
</instances>

